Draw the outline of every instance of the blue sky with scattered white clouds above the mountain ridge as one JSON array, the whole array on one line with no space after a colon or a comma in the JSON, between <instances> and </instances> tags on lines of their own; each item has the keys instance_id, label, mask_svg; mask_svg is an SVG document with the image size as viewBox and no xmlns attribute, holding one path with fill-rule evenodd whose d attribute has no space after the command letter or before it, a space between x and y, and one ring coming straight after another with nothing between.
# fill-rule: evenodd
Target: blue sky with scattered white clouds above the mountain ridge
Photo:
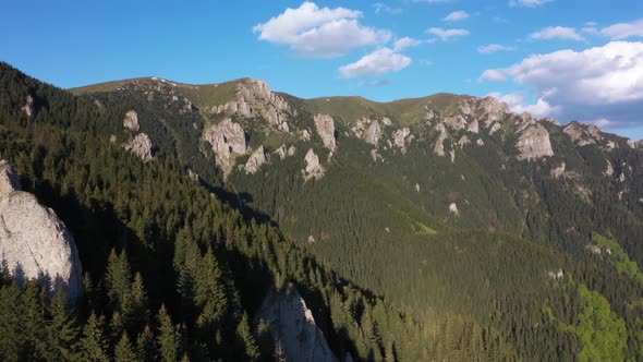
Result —
<instances>
[{"instance_id":1,"label":"blue sky with scattered white clouds above the mountain ridge","mask_svg":"<svg viewBox=\"0 0 643 362\"><path fill-rule=\"evenodd\" d=\"M643 138L643 1L14 1L0 60L74 87L252 76L310 98L494 95Z\"/></svg>"}]
</instances>

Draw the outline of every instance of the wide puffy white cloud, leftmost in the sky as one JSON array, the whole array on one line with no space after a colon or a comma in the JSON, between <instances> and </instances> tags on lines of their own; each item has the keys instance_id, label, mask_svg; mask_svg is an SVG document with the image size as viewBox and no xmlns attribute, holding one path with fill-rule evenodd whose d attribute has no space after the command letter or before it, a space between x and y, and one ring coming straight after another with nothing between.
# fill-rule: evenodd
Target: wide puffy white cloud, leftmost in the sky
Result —
<instances>
[{"instance_id":1,"label":"wide puffy white cloud, leftmost in the sky","mask_svg":"<svg viewBox=\"0 0 643 362\"><path fill-rule=\"evenodd\" d=\"M353 48L385 44L388 31L366 27L357 19L362 12L345 8L319 8L305 1L299 9L286 11L253 27L260 40L288 45L302 57L332 58Z\"/></svg>"}]
</instances>

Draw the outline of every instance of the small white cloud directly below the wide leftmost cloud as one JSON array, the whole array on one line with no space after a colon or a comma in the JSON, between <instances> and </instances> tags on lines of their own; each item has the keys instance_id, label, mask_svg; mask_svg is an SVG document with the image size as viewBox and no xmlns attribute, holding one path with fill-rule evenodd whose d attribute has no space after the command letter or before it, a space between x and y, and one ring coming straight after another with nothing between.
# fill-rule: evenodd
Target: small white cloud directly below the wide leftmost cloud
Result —
<instances>
[{"instance_id":1,"label":"small white cloud directly below the wide leftmost cloud","mask_svg":"<svg viewBox=\"0 0 643 362\"><path fill-rule=\"evenodd\" d=\"M362 57L354 63L341 67L339 73L343 77L377 76L388 72L401 71L409 64L411 64L411 58L395 52L389 48L380 48Z\"/></svg>"}]
</instances>

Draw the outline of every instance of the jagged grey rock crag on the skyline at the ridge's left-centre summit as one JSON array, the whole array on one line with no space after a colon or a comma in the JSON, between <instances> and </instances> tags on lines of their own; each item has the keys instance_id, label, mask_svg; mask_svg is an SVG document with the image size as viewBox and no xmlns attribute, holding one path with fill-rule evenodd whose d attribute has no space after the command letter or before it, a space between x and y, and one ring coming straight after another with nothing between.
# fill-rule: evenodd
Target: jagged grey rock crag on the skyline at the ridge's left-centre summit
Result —
<instances>
[{"instance_id":1,"label":"jagged grey rock crag on the skyline at the ridge's left-centre summit","mask_svg":"<svg viewBox=\"0 0 643 362\"><path fill-rule=\"evenodd\" d=\"M264 81L244 80L236 85L236 99L216 107L216 113L236 112L243 117L263 117L270 125L289 132L287 118L289 104L279 95L272 93Z\"/></svg>"}]
</instances>

